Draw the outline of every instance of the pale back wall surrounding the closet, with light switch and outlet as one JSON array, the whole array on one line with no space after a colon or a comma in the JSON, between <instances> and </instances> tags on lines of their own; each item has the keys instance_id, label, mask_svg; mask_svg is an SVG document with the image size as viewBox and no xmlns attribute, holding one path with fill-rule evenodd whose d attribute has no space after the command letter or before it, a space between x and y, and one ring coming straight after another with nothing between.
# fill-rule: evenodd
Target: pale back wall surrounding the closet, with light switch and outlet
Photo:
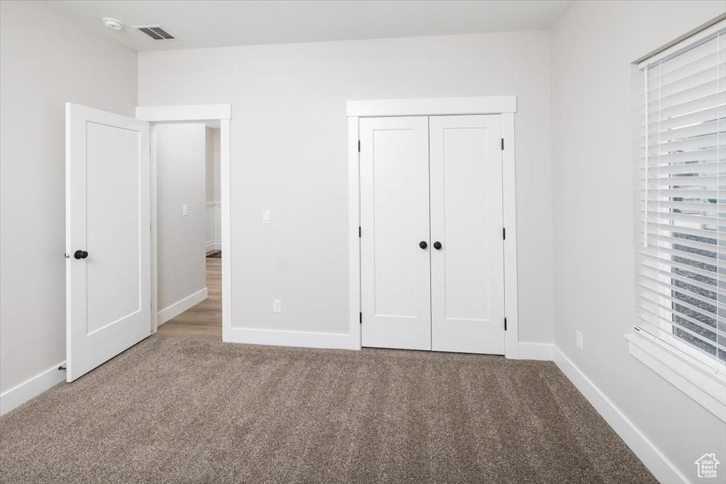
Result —
<instances>
[{"instance_id":1,"label":"pale back wall surrounding the closet, with light switch and outlet","mask_svg":"<svg viewBox=\"0 0 726 484\"><path fill-rule=\"evenodd\" d=\"M232 104L236 327L348 333L347 100L515 94L520 337L551 343L549 93L547 32L139 53L140 105Z\"/></svg>"}]
</instances>

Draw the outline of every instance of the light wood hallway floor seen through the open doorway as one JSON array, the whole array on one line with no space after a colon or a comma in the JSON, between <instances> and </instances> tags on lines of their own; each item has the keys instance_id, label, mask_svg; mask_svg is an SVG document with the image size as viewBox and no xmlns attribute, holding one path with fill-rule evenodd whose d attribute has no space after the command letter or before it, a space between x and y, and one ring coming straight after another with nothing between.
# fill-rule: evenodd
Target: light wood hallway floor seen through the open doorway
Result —
<instances>
[{"instance_id":1,"label":"light wood hallway floor seen through the open doorway","mask_svg":"<svg viewBox=\"0 0 726 484\"><path fill-rule=\"evenodd\" d=\"M222 260L208 257L205 261L207 298L162 324L159 335L222 339Z\"/></svg>"}]
</instances>

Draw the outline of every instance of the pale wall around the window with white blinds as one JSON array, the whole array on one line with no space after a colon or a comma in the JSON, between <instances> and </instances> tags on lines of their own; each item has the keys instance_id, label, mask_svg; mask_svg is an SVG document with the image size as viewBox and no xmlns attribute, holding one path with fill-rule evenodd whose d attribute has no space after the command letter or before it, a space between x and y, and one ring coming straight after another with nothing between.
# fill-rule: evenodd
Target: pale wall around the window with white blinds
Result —
<instances>
[{"instance_id":1,"label":"pale wall around the window with white blinds","mask_svg":"<svg viewBox=\"0 0 726 484\"><path fill-rule=\"evenodd\" d=\"M635 322L630 64L724 11L722 1L581 1L550 37L555 345L692 482L704 452L726 456L726 427L623 338Z\"/></svg>"}]
</instances>

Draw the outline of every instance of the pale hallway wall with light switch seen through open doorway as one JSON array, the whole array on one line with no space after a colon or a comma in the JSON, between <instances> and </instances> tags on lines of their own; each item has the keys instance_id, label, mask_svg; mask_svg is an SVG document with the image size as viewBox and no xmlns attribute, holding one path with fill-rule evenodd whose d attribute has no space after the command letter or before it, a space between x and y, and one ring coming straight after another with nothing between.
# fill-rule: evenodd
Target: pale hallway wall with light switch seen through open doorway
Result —
<instances>
[{"instance_id":1,"label":"pale hallway wall with light switch seen through open doorway","mask_svg":"<svg viewBox=\"0 0 726 484\"><path fill-rule=\"evenodd\" d=\"M205 154L203 124L156 127L158 311L174 314L196 304L206 287ZM182 215L182 205L189 214ZM184 303L187 301L188 303ZM194 305L192 304L192 305ZM166 322L161 319L159 324Z\"/></svg>"}]
</instances>

